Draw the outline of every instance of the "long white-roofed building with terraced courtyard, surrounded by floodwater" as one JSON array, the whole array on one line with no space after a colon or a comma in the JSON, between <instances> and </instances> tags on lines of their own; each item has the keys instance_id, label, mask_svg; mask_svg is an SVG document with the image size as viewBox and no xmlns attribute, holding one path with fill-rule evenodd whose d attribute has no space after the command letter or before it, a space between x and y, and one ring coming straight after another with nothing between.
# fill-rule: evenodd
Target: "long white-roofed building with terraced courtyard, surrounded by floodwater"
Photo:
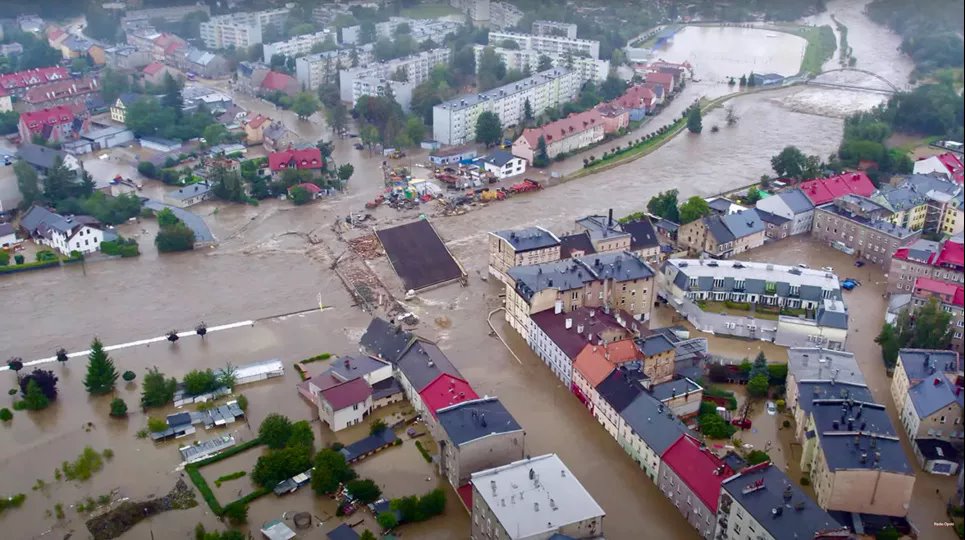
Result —
<instances>
[{"instance_id":1,"label":"long white-roofed building with terraced courtyard, surrounded by floodwater","mask_svg":"<svg viewBox=\"0 0 965 540\"><path fill-rule=\"evenodd\" d=\"M658 284L674 309L703 332L785 347L844 348L848 314L838 278L830 272L668 259Z\"/></svg>"}]
</instances>

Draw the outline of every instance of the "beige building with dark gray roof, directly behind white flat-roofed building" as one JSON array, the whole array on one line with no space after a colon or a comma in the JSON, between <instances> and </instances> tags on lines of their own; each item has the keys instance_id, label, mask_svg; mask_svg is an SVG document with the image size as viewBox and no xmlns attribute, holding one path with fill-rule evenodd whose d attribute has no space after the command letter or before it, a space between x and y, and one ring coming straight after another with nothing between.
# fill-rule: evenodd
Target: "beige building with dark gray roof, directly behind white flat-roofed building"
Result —
<instances>
[{"instance_id":1,"label":"beige building with dark gray roof, directly behind white flat-roofed building","mask_svg":"<svg viewBox=\"0 0 965 540\"><path fill-rule=\"evenodd\" d=\"M441 407L434 436L439 441L439 472L453 488L473 473L523 459L526 432L495 397L475 398Z\"/></svg>"}]
</instances>

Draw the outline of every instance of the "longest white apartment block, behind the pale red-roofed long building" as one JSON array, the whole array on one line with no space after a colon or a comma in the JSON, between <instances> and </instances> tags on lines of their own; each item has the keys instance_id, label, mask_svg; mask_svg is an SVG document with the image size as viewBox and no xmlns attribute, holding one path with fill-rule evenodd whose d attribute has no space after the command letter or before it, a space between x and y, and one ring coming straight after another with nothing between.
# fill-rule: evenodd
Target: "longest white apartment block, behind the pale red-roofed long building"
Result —
<instances>
[{"instance_id":1,"label":"longest white apartment block, behind the pale red-roofed long building","mask_svg":"<svg viewBox=\"0 0 965 540\"><path fill-rule=\"evenodd\" d=\"M465 144L476 136L483 112L499 116L502 126L519 124L527 100L534 115L576 99L580 78L575 71L553 68L521 81L440 103L432 109L432 136L442 144Z\"/></svg>"}]
</instances>

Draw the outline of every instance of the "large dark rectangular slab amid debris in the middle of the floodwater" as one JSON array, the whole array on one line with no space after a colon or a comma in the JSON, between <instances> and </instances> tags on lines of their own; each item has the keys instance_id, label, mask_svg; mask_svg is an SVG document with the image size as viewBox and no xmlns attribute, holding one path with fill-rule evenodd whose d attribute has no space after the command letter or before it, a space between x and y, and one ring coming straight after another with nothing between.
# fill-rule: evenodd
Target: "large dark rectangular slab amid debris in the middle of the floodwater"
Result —
<instances>
[{"instance_id":1,"label":"large dark rectangular slab amid debris in the middle of the floodwater","mask_svg":"<svg viewBox=\"0 0 965 540\"><path fill-rule=\"evenodd\" d=\"M425 289L463 275L429 220L420 219L375 234L406 289Z\"/></svg>"}]
</instances>

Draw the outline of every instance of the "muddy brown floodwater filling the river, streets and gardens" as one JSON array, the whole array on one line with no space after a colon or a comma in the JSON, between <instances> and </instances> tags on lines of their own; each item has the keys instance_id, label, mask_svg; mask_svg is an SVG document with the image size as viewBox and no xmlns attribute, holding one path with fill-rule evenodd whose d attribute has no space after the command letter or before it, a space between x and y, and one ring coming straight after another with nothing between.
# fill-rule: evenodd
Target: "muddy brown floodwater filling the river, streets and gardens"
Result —
<instances>
[{"instance_id":1,"label":"muddy brown floodwater filling the river, streets and gardens","mask_svg":"<svg viewBox=\"0 0 965 540\"><path fill-rule=\"evenodd\" d=\"M858 67L867 63L869 69L880 71L889 80L906 83L910 65L893 47L879 46L894 41L895 36L864 18L860 6L852 7L841 1L831 2L829 9L841 13L842 19L847 18L849 40L855 48ZM764 39L775 41L775 38ZM737 58L735 56L735 62ZM670 105L667 114L679 115L700 96L712 97L728 91L726 85L717 82L689 84ZM284 120L308 140L331 136L318 115L302 121L263 101L240 96L236 99L255 112ZM742 96L731 102L740 117L736 126L724 125L721 110L704 118L705 126L719 124L719 133L705 130L699 136L682 134L653 154L605 173L531 196L515 197L463 216L436 218L436 228L470 274L469 286L444 287L409 302L407 307L423 321L418 331L439 340L477 392L497 395L503 400L526 429L528 454L560 454L606 510L608 537L636 538L640 523L647 524L653 537L694 537L683 518L642 471L498 315L494 322L501 335L507 337L515 355L489 337L486 314L500 306L501 291L495 284L484 283L479 278L486 272L486 231L539 224L563 232L575 228L573 220L578 216L605 211L608 207L613 207L618 215L639 210L650 196L666 189L679 189L681 196L688 197L747 185L762 174L771 173L769 158L785 145L794 144L808 153L827 155L837 146L841 118L881 99L880 94L811 87ZM657 119L638 133L666 122L669 118ZM86 349L95 335L109 344L125 343L163 335L171 329L189 330L200 321L209 325L254 321L251 326L211 333L204 340L183 338L175 345L155 343L113 352L121 370L132 369L139 376L138 381L121 383L117 388L117 395L125 399L131 409L127 420L108 418L109 397L86 395L81 384L83 359L72 359L66 366L50 366L61 378L60 399L40 413L15 413L10 424L0 426L2 494L24 492L28 495L23 507L0 515L0 526L10 537L45 537L51 528L55 537L63 537L69 531L83 536L84 516L69 508L74 502L108 492L115 492L117 497L141 498L163 494L173 486L179 475L177 446L181 441L155 446L135 437L146 422L146 415L136 407L139 380L150 366L159 366L168 375L180 377L194 368L217 368L228 361L238 365L277 357L285 362L284 378L242 388L251 404L251 425L257 426L270 412L280 412L293 419L315 416L295 391L298 379L291 368L292 362L320 352L357 350L358 338L369 320L367 314L352 307L351 298L329 269L334 258L345 250L344 244L331 232L332 223L349 212L362 210L363 203L382 190L380 159L367 151L354 150L353 142L353 139L336 141L335 158L339 162L351 162L356 169L347 192L337 199L299 208L278 201L266 201L258 207L206 203L192 208L205 218L220 240L216 248L160 257L151 246L154 225L145 221L121 228L124 234L140 235L145 253L142 257L90 262L83 267L0 279L0 297L4 300L0 344L6 354L26 361L49 357L59 347L71 351ZM594 152L598 155L604 149ZM406 163L412 164L418 159L411 158ZM558 164L556 170L568 172L579 166L580 159ZM130 162L118 163L118 166L131 166ZM150 188L158 189L158 186ZM411 219L419 212L432 214L435 208L424 207L408 213L379 208L373 212L377 219L375 226ZM778 261L793 256L795 261L812 266L830 264L842 269L850 265L847 257L838 252L797 242L766 247L748 256ZM398 278L384 259L375 261L373 268L391 290L396 294L401 292ZM869 386L893 409L887 392L888 381L881 369L877 347L871 340L884 311L884 300L870 284L881 281L880 274L872 275L874 279L864 275L874 272L865 267L853 276L862 279L865 285L849 296L849 300L855 302L852 306L858 306L852 307L856 331L849 346L859 355ZM319 299L332 309L319 312ZM447 324L435 322L444 319L448 320ZM752 357L757 351L755 347L767 345L712 340L712 350L725 356ZM777 360L779 352L771 352ZM769 357L771 352L767 353ZM7 380L9 387L15 384L12 373L0 373L0 378ZM5 406L12 403L12 398L7 400ZM167 412L170 411L151 414ZM89 431L84 427L87 422L94 426ZM228 431L237 431L240 438L251 435L246 426L236 426ZM202 432L198 437L207 439L221 433ZM317 433L319 444L335 440L335 436L321 426ZM112 448L115 457L88 482L60 482L44 491L30 489L37 479L53 484L53 469L64 460L76 457L85 445L99 450ZM414 445L406 441L401 448L361 464L360 469L384 483L387 493L425 492L435 486L438 478L426 472L426 465L419 463L420 456L413 450ZM910 449L908 455L912 455ZM224 467L223 472L232 472L236 465ZM427 482L424 472L426 476L431 474L432 480ZM232 481L224 488L239 489L245 482L247 480ZM919 478L916 495L920 497L913 503L911 516L920 526L941 519L942 507L934 490L941 489L948 495L946 484L931 477ZM403 529L403 533L416 538L465 537L468 517L454 493L451 490L447 493L450 500L445 516ZM67 519L62 522L46 515L58 502L66 507ZM250 521L260 524L292 511L312 512L325 522L322 531L339 521L333 518L331 501L318 499L305 489L282 499L269 495L255 502ZM194 510L147 520L126 538L148 538L151 533L161 538L184 538L199 521L209 528L217 524L203 502ZM929 537L947 534L926 532L934 533Z\"/></svg>"}]
</instances>

